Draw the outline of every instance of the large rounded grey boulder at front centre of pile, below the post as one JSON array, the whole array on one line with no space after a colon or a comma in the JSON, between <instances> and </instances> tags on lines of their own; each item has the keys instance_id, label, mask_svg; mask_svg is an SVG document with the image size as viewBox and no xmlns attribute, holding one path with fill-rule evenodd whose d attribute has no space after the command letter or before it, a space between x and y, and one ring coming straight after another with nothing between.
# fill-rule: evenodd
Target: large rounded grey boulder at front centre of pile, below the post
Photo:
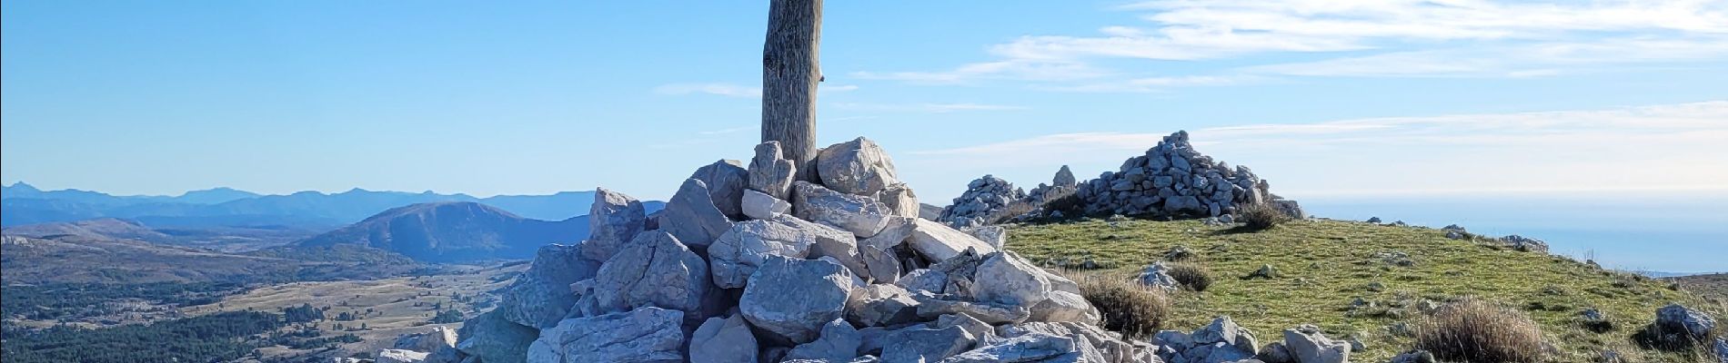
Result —
<instances>
[{"instance_id":1,"label":"large rounded grey boulder at front centre of pile, below the post","mask_svg":"<svg viewBox=\"0 0 1728 363\"><path fill-rule=\"evenodd\" d=\"M810 342L824 323L845 315L852 279L838 263L772 256L750 275L738 308L760 332Z\"/></svg>"}]
</instances>

